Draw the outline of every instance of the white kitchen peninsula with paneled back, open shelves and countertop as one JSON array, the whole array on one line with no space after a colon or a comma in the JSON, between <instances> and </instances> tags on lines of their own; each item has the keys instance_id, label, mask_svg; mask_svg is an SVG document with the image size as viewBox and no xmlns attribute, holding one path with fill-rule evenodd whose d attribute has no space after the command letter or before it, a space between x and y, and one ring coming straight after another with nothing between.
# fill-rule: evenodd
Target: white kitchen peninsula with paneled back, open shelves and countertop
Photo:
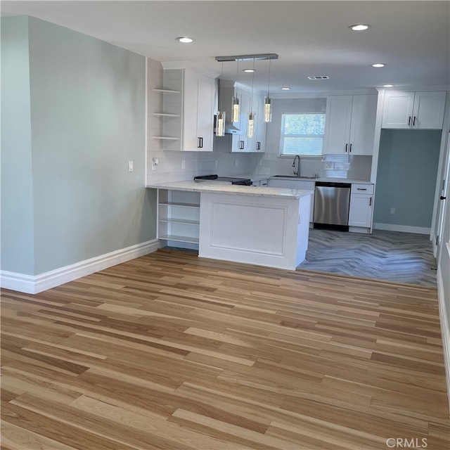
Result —
<instances>
[{"instance_id":1,"label":"white kitchen peninsula with paneled back, open shelves and countertop","mask_svg":"<svg viewBox=\"0 0 450 450\"><path fill-rule=\"evenodd\" d=\"M312 191L221 181L149 184L158 238L198 256L295 270L305 257ZM191 246L191 247L189 247Z\"/></svg>"}]
</instances>

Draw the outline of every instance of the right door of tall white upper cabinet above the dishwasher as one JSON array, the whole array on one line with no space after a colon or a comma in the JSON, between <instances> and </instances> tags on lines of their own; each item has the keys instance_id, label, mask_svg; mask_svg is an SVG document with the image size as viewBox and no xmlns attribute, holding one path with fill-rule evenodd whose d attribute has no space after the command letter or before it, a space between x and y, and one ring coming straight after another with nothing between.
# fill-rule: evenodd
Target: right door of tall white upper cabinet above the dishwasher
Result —
<instances>
[{"instance_id":1,"label":"right door of tall white upper cabinet above the dishwasher","mask_svg":"<svg viewBox=\"0 0 450 450\"><path fill-rule=\"evenodd\" d=\"M353 96L348 147L350 155L373 154L377 98L376 95Z\"/></svg>"}]
</instances>

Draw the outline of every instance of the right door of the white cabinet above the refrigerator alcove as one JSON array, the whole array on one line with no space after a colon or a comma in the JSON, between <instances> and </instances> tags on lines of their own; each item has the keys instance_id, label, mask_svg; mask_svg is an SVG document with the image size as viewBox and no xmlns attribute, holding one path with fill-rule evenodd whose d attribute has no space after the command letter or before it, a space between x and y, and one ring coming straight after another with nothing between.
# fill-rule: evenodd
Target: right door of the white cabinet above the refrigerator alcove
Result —
<instances>
[{"instance_id":1,"label":"right door of the white cabinet above the refrigerator alcove","mask_svg":"<svg viewBox=\"0 0 450 450\"><path fill-rule=\"evenodd\" d=\"M444 91L416 92L412 128L442 129L445 96Z\"/></svg>"}]
</instances>

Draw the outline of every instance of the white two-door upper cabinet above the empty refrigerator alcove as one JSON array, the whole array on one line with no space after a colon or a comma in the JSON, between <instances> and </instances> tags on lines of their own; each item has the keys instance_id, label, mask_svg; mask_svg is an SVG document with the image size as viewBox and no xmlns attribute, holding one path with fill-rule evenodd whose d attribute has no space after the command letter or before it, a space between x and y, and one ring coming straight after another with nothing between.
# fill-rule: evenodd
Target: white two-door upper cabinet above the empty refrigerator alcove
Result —
<instances>
[{"instance_id":1,"label":"white two-door upper cabinet above the empty refrigerator alcove","mask_svg":"<svg viewBox=\"0 0 450 450\"><path fill-rule=\"evenodd\" d=\"M387 91L382 128L442 129L445 91Z\"/></svg>"}]
</instances>

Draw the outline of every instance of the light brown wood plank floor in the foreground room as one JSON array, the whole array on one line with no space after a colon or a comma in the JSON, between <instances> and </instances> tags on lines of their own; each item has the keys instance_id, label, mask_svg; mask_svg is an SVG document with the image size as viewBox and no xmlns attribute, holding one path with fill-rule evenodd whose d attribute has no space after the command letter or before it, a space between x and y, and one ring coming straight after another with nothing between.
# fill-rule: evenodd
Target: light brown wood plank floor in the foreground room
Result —
<instances>
[{"instance_id":1,"label":"light brown wood plank floor in the foreground room","mask_svg":"<svg viewBox=\"0 0 450 450\"><path fill-rule=\"evenodd\" d=\"M158 251L4 290L2 449L449 449L434 288Z\"/></svg>"}]
</instances>

